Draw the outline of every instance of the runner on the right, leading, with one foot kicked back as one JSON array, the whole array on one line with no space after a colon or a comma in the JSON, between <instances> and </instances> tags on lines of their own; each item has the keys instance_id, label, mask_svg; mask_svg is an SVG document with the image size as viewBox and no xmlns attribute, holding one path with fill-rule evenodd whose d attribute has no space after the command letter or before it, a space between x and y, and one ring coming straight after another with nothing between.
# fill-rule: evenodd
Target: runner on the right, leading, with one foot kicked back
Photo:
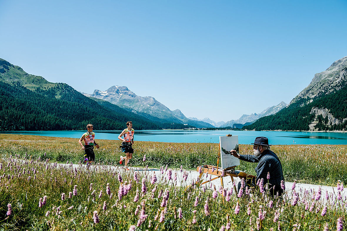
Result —
<instances>
[{"instance_id":1,"label":"runner on the right, leading, with one foot kicked back","mask_svg":"<svg viewBox=\"0 0 347 231\"><path fill-rule=\"evenodd\" d=\"M128 121L127 127L128 128L125 128L118 136L118 139L123 141L119 147L122 148L122 151L125 153L125 157L120 156L119 163L122 164L123 160L125 160L125 167L127 167L129 159L133 158L134 153L134 149L132 148L132 145L134 144L134 129L132 128L133 123Z\"/></svg>"}]
</instances>

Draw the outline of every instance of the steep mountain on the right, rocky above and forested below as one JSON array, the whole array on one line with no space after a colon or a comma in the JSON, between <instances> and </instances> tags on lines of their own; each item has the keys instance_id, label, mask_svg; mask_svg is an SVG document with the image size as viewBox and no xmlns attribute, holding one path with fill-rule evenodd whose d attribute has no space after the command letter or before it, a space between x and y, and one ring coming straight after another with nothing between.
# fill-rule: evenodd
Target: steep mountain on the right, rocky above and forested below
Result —
<instances>
[{"instance_id":1,"label":"steep mountain on the right, rocky above and forested below","mask_svg":"<svg viewBox=\"0 0 347 231\"><path fill-rule=\"evenodd\" d=\"M316 73L288 107L258 119L247 130L347 130L347 56Z\"/></svg>"}]
</instances>

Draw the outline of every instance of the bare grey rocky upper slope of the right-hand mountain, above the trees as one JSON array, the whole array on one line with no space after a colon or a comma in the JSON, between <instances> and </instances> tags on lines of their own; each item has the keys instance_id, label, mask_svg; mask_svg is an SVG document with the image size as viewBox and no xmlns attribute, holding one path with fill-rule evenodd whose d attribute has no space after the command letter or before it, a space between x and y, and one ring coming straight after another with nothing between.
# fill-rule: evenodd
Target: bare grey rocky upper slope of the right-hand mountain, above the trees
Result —
<instances>
[{"instance_id":1,"label":"bare grey rocky upper slope of the right-hand mountain, above the trees","mask_svg":"<svg viewBox=\"0 0 347 231\"><path fill-rule=\"evenodd\" d=\"M323 72L316 73L311 83L302 90L290 104L299 99L305 98L306 104L313 101L314 98L328 95L340 90L347 83L347 56L335 61L329 68ZM301 106L304 106L302 104Z\"/></svg>"}]
</instances>

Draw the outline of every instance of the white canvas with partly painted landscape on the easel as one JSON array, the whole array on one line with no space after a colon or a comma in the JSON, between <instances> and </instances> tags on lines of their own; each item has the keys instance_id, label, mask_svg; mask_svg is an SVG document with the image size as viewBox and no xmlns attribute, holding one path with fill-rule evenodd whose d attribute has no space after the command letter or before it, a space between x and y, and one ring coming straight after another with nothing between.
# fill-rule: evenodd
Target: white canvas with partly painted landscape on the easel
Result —
<instances>
[{"instance_id":1,"label":"white canvas with partly painted landscape on the easel","mask_svg":"<svg viewBox=\"0 0 347 231\"><path fill-rule=\"evenodd\" d=\"M230 155L230 150L239 153L238 136L219 136L219 144L222 169L240 165L240 160Z\"/></svg>"}]
</instances>

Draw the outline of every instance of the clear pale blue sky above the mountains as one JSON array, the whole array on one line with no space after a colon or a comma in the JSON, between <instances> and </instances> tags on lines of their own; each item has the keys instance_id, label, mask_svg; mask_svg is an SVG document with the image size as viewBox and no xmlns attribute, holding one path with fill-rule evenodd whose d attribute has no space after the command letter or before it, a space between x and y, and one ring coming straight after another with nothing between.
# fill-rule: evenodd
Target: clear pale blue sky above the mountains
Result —
<instances>
[{"instance_id":1,"label":"clear pale blue sky above the mountains","mask_svg":"<svg viewBox=\"0 0 347 231\"><path fill-rule=\"evenodd\" d=\"M347 55L347 1L0 0L0 58L218 121L289 103Z\"/></svg>"}]
</instances>

